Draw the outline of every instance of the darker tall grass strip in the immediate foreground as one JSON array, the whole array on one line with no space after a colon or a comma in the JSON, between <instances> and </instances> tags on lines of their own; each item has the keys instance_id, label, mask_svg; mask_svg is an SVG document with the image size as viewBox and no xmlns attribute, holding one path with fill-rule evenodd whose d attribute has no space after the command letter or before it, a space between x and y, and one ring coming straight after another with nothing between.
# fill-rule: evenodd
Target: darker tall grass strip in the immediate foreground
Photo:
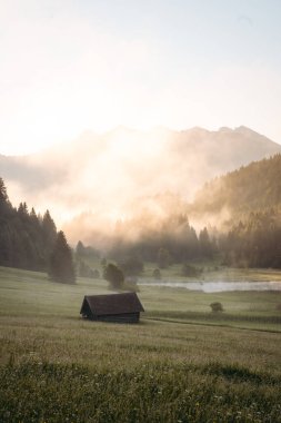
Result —
<instances>
[{"instance_id":1,"label":"darker tall grass strip in the immediate foreground","mask_svg":"<svg viewBox=\"0 0 281 423\"><path fill-rule=\"evenodd\" d=\"M96 371L23 363L0 370L0 419L13 422L280 422L281 378L240 366Z\"/></svg>"}]
</instances>

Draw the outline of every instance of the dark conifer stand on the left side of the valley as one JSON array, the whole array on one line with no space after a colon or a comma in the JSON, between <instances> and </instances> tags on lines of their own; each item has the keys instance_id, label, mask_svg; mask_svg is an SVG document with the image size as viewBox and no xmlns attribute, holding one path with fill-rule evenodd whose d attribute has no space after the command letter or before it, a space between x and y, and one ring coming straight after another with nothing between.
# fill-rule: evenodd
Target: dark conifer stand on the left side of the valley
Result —
<instances>
[{"instance_id":1,"label":"dark conifer stand on the left side of the valley","mask_svg":"<svg viewBox=\"0 0 281 423\"><path fill-rule=\"evenodd\" d=\"M48 272L59 282L73 283L71 249L47 210L37 215L26 203L18 208L9 200L0 178L0 266Z\"/></svg>"}]
</instances>

